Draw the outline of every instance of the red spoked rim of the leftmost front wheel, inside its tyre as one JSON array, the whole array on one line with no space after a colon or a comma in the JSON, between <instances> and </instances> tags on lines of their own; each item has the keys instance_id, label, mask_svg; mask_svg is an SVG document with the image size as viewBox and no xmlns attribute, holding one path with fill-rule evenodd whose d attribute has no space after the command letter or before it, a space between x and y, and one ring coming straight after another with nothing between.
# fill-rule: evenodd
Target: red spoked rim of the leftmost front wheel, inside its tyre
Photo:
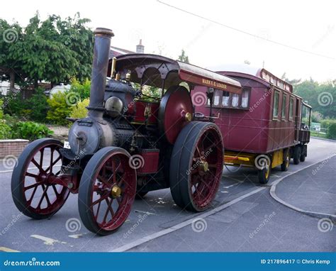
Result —
<instances>
[{"instance_id":1,"label":"red spoked rim of the leftmost front wheel, inside its tyre","mask_svg":"<svg viewBox=\"0 0 336 271\"><path fill-rule=\"evenodd\" d=\"M53 214L65 203L69 189L48 183L50 176L61 173L63 157L60 148L60 145L47 143L28 157L21 182L28 211L40 215Z\"/></svg>"}]
</instances>

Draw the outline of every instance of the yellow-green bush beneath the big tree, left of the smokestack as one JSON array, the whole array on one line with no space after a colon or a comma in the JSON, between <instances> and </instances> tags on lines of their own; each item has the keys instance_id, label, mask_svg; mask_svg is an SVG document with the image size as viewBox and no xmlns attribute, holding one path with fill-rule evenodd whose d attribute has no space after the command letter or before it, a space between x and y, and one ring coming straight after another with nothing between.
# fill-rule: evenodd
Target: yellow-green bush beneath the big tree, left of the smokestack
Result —
<instances>
[{"instance_id":1,"label":"yellow-green bush beneath the big tree, left of the smokestack","mask_svg":"<svg viewBox=\"0 0 336 271\"><path fill-rule=\"evenodd\" d=\"M67 117L72 112L72 106L67 103L67 92L57 92L52 98L47 99L49 111L47 111L47 120L59 125L67 125Z\"/></svg>"}]
</instances>

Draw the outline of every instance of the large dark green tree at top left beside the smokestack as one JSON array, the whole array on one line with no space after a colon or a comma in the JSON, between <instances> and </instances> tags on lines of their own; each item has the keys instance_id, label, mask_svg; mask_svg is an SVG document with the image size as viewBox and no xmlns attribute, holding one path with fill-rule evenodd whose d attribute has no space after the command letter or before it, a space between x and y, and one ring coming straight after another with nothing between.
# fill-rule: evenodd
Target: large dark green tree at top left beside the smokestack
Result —
<instances>
[{"instance_id":1,"label":"large dark green tree at top left beside the smokestack","mask_svg":"<svg viewBox=\"0 0 336 271\"><path fill-rule=\"evenodd\" d=\"M0 67L14 70L16 83L21 85L36 85L41 80L67 83L72 77L83 81L91 74L93 51L88 22L79 13L65 20L50 15L45 21L37 13L24 29L0 20L1 37L9 30L15 35L11 43L0 39Z\"/></svg>"}]
</instances>

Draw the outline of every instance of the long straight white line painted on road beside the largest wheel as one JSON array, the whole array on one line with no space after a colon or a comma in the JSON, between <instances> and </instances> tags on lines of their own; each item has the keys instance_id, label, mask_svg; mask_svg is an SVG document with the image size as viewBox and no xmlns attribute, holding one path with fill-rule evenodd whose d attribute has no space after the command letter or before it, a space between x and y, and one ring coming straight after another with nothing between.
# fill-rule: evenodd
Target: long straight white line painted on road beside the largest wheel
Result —
<instances>
[{"instance_id":1,"label":"long straight white line painted on road beside the largest wheel","mask_svg":"<svg viewBox=\"0 0 336 271\"><path fill-rule=\"evenodd\" d=\"M215 213L218 213L218 211L222 211L223 209L228 208L229 206L237 203L238 201L241 201L242 199L250 197L250 196L252 196L252 194L256 194L256 193L258 193L258 192L260 192L260 191L262 191L264 189L267 189L267 187L260 187L258 189L255 189L255 190L253 190L250 193L247 193L245 195L242 195L241 197L238 197L237 199L233 199L233 201L230 201L227 204L223 204L221 206L216 207L215 209L212 209L210 211L206 211L206 212L202 213L201 215L197 216L197 219L204 219L207 216L211 216L211 215L213 215ZM196 218L194 217L192 219L189 219L187 221L179 223L179 224L177 224L175 226L172 226L170 228L166 228L163 231L158 231L157 233L152 233L149 236L145 236L143 238L135 240L134 242L128 243L126 245L122 245L119 248L115 248L115 249L111 250L111 252L123 252L123 251L126 251L126 250L130 250L132 248L137 247L138 245L142 245L143 243L147 243L150 240L159 238L159 237L164 236L164 235L166 235L168 233L172 233L173 231L177 231L180 228L184 228L185 226L191 225L191 223L193 223L195 219Z\"/></svg>"}]
</instances>

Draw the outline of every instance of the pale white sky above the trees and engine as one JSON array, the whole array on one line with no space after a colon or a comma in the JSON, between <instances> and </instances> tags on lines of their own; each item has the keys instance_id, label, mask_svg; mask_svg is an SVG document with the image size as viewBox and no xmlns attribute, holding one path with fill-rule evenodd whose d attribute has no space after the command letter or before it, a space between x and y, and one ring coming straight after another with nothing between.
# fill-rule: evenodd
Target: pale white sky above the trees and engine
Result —
<instances>
[{"instance_id":1,"label":"pale white sky above the trees and engine","mask_svg":"<svg viewBox=\"0 0 336 271\"><path fill-rule=\"evenodd\" d=\"M189 62L210 70L247 60L278 77L336 79L335 0L159 1L6 1L0 18L26 26L36 11L42 19L79 11L91 19L90 28L111 28L111 45L119 48L135 50L141 38L147 53L177 59L184 49Z\"/></svg>"}]
</instances>

